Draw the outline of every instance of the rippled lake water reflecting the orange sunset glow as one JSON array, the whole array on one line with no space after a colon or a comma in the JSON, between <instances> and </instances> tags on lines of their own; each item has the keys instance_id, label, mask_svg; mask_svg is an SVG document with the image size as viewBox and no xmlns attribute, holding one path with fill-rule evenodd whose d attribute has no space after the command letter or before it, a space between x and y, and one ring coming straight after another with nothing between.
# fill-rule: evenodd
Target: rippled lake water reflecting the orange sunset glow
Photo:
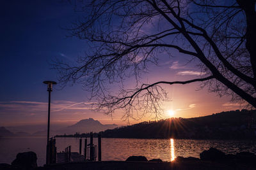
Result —
<instances>
[{"instance_id":1,"label":"rippled lake water reflecting the orange sunset glow","mask_svg":"<svg viewBox=\"0 0 256 170\"><path fill-rule=\"evenodd\" d=\"M97 145L97 138L93 141ZM58 152L68 145L71 145L72 152L79 152L78 138L56 138ZM0 146L0 163L10 164L17 153L33 151L38 157L38 166L45 164L46 138L0 138ZM256 141L102 138L102 160L125 160L131 155L164 161L171 161L177 156L199 158L199 153L210 147L225 153L256 153Z\"/></svg>"}]
</instances>

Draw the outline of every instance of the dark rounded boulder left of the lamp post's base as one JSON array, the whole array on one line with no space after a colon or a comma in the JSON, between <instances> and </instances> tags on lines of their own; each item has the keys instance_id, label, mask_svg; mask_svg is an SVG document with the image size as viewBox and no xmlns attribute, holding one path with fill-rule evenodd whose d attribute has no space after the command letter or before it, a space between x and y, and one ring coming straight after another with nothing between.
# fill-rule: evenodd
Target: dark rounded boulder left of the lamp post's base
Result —
<instances>
[{"instance_id":1,"label":"dark rounded boulder left of the lamp post's base","mask_svg":"<svg viewBox=\"0 0 256 170\"><path fill-rule=\"evenodd\" d=\"M33 169L37 167L35 152L23 152L18 153L16 159L13 160L12 166L16 166L22 169Z\"/></svg>"}]
</instances>

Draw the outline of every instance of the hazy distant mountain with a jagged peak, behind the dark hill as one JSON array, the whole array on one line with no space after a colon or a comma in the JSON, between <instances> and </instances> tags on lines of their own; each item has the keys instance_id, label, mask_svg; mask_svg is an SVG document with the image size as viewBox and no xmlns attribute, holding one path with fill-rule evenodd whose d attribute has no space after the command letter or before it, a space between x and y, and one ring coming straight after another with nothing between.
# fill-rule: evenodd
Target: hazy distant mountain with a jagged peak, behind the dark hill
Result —
<instances>
[{"instance_id":1,"label":"hazy distant mountain with a jagged peak, behind the dark hill","mask_svg":"<svg viewBox=\"0 0 256 170\"><path fill-rule=\"evenodd\" d=\"M68 127L59 129L57 134L75 134L78 133L87 133L87 132L100 132L105 131L107 129L114 129L118 127L116 124L107 124L103 125L98 120L94 120L93 118L88 118L84 120L80 120L74 125L70 125Z\"/></svg>"}]
</instances>

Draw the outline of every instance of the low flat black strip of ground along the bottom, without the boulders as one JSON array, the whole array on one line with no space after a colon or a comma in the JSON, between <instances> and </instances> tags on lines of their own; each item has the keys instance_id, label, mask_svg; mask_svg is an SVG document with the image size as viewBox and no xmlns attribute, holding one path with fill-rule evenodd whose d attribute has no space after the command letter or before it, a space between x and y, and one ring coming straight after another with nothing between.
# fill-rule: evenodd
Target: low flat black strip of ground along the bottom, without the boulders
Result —
<instances>
[{"instance_id":1,"label":"low flat black strip of ground along the bottom, without the boulders","mask_svg":"<svg viewBox=\"0 0 256 170\"><path fill-rule=\"evenodd\" d=\"M256 169L256 167L236 164L234 162L211 162L203 160L186 160L173 162L127 162L127 161L100 161L100 162L70 162L52 164L50 166L38 167L37 169L44 170L59 170L59 169Z\"/></svg>"}]
</instances>

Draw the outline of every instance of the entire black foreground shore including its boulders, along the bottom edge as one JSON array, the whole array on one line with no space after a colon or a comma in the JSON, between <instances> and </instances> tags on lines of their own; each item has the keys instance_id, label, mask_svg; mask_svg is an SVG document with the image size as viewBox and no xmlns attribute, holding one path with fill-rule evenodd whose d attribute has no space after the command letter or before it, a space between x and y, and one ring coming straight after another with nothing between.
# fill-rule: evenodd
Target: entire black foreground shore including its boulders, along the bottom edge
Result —
<instances>
[{"instance_id":1,"label":"entire black foreground shore including its boulders, along the bottom edge","mask_svg":"<svg viewBox=\"0 0 256 170\"><path fill-rule=\"evenodd\" d=\"M131 156L125 161L100 162L68 162L37 167L34 152L18 153L12 165L0 164L0 169L256 169L256 155L250 152L240 152L236 155L225 154L216 148L210 148L200 153L200 159L195 157L177 157L172 162L161 159L147 160L143 156Z\"/></svg>"}]
</instances>

